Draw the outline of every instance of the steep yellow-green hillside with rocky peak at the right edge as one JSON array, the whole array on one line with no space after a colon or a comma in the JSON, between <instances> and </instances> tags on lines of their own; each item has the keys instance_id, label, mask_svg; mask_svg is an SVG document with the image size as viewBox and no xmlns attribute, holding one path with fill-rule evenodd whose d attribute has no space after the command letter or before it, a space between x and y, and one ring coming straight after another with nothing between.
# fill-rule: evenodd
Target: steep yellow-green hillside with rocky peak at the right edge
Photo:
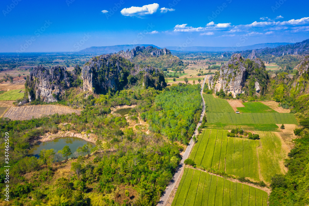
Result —
<instances>
[{"instance_id":1,"label":"steep yellow-green hillside with rocky peak at the right edge","mask_svg":"<svg viewBox=\"0 0 309 206\"><path fill-rule=\"evenodd\" d=\"M309 109L309 56L303 58L298 73L290 79L283 72L269 82L267 95L280 102L283 108L293 108L292 112L307 114Z\"/></svg>"}]
</instances>

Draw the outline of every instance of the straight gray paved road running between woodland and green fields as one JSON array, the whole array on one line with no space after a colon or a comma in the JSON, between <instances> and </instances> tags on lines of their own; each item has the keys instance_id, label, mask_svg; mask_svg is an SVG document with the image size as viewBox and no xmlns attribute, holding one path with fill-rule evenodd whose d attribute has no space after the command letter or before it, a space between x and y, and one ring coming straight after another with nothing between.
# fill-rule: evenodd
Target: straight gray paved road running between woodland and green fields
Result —
<instances>
[{"instance_id":1,"label":"straight gray paved road running between woodland and green fields","mask_svg":"<svg viewBox=\"0 0 309 206\"><path fill-rule=\"evenodd\" d=\"M205 84L206 78L207 78L207 75L204 78L204 81L203 81L203 84L202 84L202 88L201 88L201 96L202 96L202 99L203 99L202 114L201 114L200 121L197 124L197 127L195 129L195 132L194 132L193 136L194 135L197 136L197 128L201 126L201 123L202 123L202 120L203 120L203 117L204 117L204 114L205 114L205 101L204 101L204 97L203 97L203 88L204 88L204 84ZM165 191L163 192L163 195L161 196L160 201L157 204L157 206L161 206L161 205L164 206L166 204L167 199L170 196L171 191L175 187L175 184L176 184L176 182L177 182L177 180L178 180L182 170L184 170L184 160L186 160L188 158L188 156L189 156L189 154L191 152L192 147L193 147L193 139L191 138L191 140L189 142L189 145L188 145L186 151L184 152L184 155L182 156L182 160L180 161L180 164L179 164L179 166L178 166L178 168L176 170L176 173L174 174L173 179L171 180L171 182L168 184L168 186L166 187Z\"/></svg>"}]
</instances>

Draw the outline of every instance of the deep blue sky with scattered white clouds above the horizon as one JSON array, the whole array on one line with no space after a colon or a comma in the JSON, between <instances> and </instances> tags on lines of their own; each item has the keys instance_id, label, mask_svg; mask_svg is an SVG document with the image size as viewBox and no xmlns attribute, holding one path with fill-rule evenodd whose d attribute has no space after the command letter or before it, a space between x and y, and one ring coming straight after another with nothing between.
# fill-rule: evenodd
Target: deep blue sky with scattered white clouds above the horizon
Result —
<instances>
[{"instance_id":1,"label":"deep blue sky with scattered white clouds above the horizon","mask_svg":"<svg viewBox=\"0 0 309 206\"><path fill-rule=\"evenodd\" d=\"M231 46L309 39L309 1L2 0L0 52Z\"/></svg>"}]
</instances>

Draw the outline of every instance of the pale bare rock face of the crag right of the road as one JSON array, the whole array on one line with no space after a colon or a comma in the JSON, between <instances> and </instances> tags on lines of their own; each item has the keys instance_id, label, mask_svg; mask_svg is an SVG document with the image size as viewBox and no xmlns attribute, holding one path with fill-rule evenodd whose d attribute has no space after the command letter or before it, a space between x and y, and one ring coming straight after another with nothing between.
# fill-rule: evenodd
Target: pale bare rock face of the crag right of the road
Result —
<instances>
[{"instance_id":1,"label":"pale bare rock face of the crag right of the road","mask_svg":"<svg viewBox=\"0 0 309 206\"><path fill-rule=\"evenodd\" d=\"M231 92L235 98L237 94L243 93L248 72L244 67L243 58L240 54L233 54L231 59L221 66L220 73L209 77L209 87L218 92Z\"/></svg>"}]
</instances>

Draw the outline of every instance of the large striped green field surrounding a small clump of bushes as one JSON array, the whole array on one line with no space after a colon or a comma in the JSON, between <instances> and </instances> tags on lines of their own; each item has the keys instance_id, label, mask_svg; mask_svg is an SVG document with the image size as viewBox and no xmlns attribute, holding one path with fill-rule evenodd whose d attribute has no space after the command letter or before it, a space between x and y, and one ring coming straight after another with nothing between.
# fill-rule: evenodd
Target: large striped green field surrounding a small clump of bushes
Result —
<instances>
[{"instance_id":1,"label":"large striped green field surrounding a small clump of bushes","mask_svg":"<svg viewBox=\"0 0 309 206\"><path fill-rule=\"evenodd\" d=\"M189 158L197 165L255 181L270 182L274 174L283 172L279 162L286 158L286 153L275 133L256 132L260 140L252 140L227 137L227 132L204 130Z\"/></svg>"}]
</instances>

